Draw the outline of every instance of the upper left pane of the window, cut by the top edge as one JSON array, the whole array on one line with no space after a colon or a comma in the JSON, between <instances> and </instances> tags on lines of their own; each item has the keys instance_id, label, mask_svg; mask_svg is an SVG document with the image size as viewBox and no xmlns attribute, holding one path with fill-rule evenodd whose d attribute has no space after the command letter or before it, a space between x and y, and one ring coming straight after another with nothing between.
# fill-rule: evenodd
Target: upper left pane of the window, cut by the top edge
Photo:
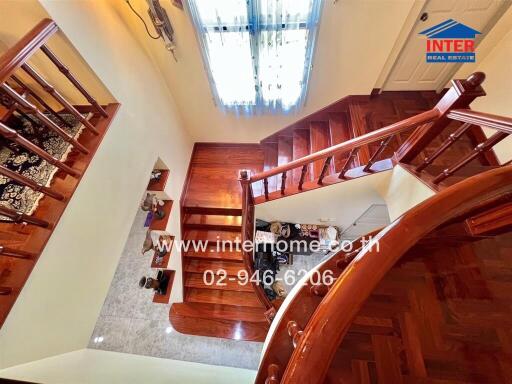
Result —
<instances>
[{"instance_id":1,"label":"upper left pane of the window, cut by the top edge","mask_svg":"<svg viewBox=\"0 0 512 384\"><path fill-rule=\"evenodd\" d=\"M203 25L246 25L245 0L195 0Z\"/></svg>"}]
</instances>

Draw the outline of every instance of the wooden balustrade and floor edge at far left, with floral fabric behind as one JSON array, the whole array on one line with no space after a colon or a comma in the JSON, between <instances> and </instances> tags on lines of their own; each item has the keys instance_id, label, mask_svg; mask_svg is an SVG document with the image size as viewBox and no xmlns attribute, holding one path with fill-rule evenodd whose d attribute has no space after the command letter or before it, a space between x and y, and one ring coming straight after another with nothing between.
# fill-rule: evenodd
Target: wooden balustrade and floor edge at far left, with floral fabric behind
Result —
<instances>
[{"instance_id":1,"label":"wooden balustrade and floor edge at far left, with floral fabric behind","mask_svg":"<svg viewBox=\"0 0 512 384\"><path fill-rule=\"evenodd\" d=\"M58 32L44 19L0 57L0 176L11 188L0 201L0 325L119 107L100 105L50 48ZM55 68L62 81L47 80L36 63ZM63 90L78 91L86 102L74 104ZM15 204L29 200L22 193L31 204Z\"/></svg>"}]
</instances>

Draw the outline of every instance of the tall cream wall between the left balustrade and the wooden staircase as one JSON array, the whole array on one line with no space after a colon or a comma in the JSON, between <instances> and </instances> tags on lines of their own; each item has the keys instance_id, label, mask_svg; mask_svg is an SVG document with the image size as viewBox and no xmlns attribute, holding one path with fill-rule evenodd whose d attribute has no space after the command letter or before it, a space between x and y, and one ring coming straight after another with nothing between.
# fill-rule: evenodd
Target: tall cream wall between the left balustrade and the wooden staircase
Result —
<instances>
[{"instance_id":1,"label":"tall cream wall between the left balustrade and the wooden staircase","mask_svg":"<svg viewBox=\"0 0 512 384\"><path fill-rule=\"evenodd\" d=\"M192 150L165 81L108 2L41 4L122 106L0 330L0 367L87 346L154 162L169 166L178 201ZM46 14L35 0L3 1L0 29L6 9L14 23ZM179 237L178 204L169 228Z\"/></svg>"}]
</instances>

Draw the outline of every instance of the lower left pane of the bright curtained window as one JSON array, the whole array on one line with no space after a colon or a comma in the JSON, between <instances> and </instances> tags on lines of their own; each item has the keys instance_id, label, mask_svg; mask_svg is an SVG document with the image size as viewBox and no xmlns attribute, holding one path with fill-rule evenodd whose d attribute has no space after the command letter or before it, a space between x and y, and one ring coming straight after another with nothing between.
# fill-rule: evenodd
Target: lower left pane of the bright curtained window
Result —
<instances>
[{"instance_id":1,"label":"lower left pane of the bright curtained window","mask_svg":"<svg viewBox=\"0 0 512 384\"><path fill-rule=\"evenodd\" d=\"M248 32L205 36L217 94L224 105L254 105L256 91Z\"/></svg>"}]
</instances>

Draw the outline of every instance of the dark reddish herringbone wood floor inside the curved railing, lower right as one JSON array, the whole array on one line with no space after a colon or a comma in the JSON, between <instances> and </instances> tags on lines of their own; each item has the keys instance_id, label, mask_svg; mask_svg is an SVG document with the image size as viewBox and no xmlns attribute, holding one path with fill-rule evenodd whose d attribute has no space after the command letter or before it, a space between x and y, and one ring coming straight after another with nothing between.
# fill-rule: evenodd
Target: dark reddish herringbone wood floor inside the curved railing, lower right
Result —
<instances>
[{"instance_id":1,"label":"dark reddish herringbone wood floor inside the curved railing, lower right","mask_svg":"<svg viewBox=\"0 0 512 384\"><path fill-rule=\"evenodd\" d=\"M512 234L418 245L352 324L327 383L512 382Z\"/></svg>"}]
</instances>

